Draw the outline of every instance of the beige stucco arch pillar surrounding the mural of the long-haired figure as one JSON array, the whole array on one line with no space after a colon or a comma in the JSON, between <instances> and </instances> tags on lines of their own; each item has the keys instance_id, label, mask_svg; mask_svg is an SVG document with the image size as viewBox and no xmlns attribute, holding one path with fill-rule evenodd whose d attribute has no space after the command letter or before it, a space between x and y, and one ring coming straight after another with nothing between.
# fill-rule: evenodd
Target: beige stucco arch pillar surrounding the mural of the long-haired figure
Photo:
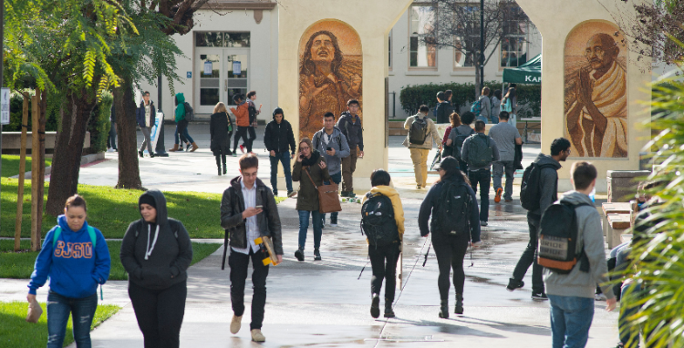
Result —
<instances>
[{"instance_id":1,"label":"beige stucco arch pillar surrounding the mural of the long-haired figure","mask_svg":"<svg viewBox=\"0 0 684 348\"><path fill-rule=\"evenodd\" d=\"M339 20L354 28L363 48L365 158L358 160L355 189L369 189L373 169L388 168L385 148L385 77L387 35L410 0L280 0L278 9L278 102L298 138L299 41L309 26Z\"/></svg>"}]
</instances>

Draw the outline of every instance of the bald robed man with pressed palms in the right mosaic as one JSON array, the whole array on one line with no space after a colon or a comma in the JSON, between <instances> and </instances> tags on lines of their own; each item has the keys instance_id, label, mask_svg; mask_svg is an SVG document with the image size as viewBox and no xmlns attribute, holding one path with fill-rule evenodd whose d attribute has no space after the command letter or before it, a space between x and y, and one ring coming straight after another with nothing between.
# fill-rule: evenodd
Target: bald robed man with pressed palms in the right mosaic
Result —
<instances>
[{"instance_id":1,"label":"bald robed man with pressed palms in the right mosaic","mask_svg":"<svg viewBox=\"0 0 684 348\"><path fill-rule=\"evenodd\" d=\"M579 157L627 157L627 73L617 64L619 52L612 36L591 36L589 65L577 69L565 91L567 132Z\"/></svg>"}]
</instances>

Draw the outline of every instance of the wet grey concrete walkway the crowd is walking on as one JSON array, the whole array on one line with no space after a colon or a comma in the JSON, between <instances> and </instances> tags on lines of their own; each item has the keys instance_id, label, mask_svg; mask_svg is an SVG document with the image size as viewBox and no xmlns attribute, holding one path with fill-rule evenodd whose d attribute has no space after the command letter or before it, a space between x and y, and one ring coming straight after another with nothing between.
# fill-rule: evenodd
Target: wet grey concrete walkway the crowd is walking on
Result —
<instances>
[{"instance_id":1,"label":"wet grey concrete walkway the crowd is walking on","mask_svg":"<svg viewBox=\"0 0 684 348\"><path fill-rule=\"evenodd\" d=\"M233 171L228 176L215 176L213 158L208 151L208 136L195 136L200 133L199 128L191 126L190 129L201 147L197 152L171 154L167 159L140 160L145 187L212 192L222 192L226 188L228 178L236 175L234 168L237 164L229 164ZM167 128L166 131L167 135L171 134L167 138L171 138L173 129ZM418 232L418 210L426 190L412 189L415 183L409 151L400 146L401 140L401 137L392 137L389 150L389 171L403 198L407 218L402 264L404 284L397 290L397 318L374 320L368 312L371 271L367 265L367 246L358 228L360 204L343 203L339 226L326 226L321 245L323 261L313 261L313 237L309 233L306 261L297 262L294 258L298 233L295 200L285 200L279 205L284 226L285 261L271 268L268 277L263 327L266 342L250 342L249 311L244 314L240 333L232 335L228 331L232 316L229 271L221 271L223 250L220 249L188 271L188 302L181 330L181 346L550 346L548 303L531 300L531 274L528 272L525 277L528 285L522 290L505 290L515 263L527 244L524 210L515 204L494 205L492 200L490 226L483 228L482 233L484 247L472 251L472 256L469 254L465 261L466 266L472 264L465 269L465 313L461 316L451 314L448 320L438 317L437 261L430 249L427 264L422 267L430 241L421 238ZM262 142L257 140L255 144ZM263 160L260 167L269 168L262 149L257 147L254 152ZM525 148L526 162L538 152L539 148ZM433 154L430 159L431 156ZM114 185L116 154L108 154L108 159L81 169L80 182ZM261 178L268 181L264 169ZM430 181L436 178L430 177ZM365 265L366 270L358 280ZM125 281L109 281L105 285L104 302L117 303L123 309L92 333L93 347L143 346L126 286ZM249 288L246 290L246 302L251 301ZM25 280L0 280L0 289L2 301L26 299ZM39 299L45 301L46 287L38 293ZM451 293L450 307L453 310L453 289ZM587 347L608 347L617 343L617 312L605 312L605 304L596 302L596 315Z\"/></svg>"}]
</instances>

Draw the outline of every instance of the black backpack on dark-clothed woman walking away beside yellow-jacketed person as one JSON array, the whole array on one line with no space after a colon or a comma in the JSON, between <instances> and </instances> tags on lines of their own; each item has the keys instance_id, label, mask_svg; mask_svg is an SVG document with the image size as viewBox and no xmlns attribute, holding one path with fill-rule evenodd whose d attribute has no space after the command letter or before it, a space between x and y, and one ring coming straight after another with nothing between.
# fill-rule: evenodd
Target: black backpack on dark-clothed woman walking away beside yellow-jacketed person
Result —
<instances>
[{"instance_id":1,"label":"black backpack on dark-clothed woman walking away beside yellow-jacketed person","mask_svg":"<svg viewBox=\"0 0 684 348\"><path fill-rule=\"evenodd\" d=\"M470 235L472 197L465 182L444 182L432 216L432 230L448 235Z\"/></svg>"}]
</instances>

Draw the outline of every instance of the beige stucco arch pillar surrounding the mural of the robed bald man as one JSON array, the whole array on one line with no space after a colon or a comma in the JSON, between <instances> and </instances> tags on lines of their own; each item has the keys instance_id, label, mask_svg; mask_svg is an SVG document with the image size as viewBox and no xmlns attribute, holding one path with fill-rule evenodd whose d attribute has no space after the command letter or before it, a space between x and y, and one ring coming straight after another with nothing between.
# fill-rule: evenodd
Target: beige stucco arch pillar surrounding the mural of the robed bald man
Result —
<instances>
[{"instance_id":1,"label":"beige stucco arch pillar surrounding the mural of the robed bald man","mask_svg":"<svg viewBox=\"0 0 684 348\"><path fill-rule=\"evenodd\" d=\"M554 138L564 136L564 50L565 38L575 26L586 21L599 20L615 23L613 15L626 15L633 8L628 2L600 2L597 0L517 0L524 12L534 22L543 37L542 46L542 151L549 153ZM602 5L603 4L603 5ZM606 7L604 7L606 5ZM615 7L615 6L619 7ZM643 58L642 58L643 59ZM596 190L606 191L607 170L638 169L638 154L646 145L650 136L650 128L641 123L649 118L648 111L639 101L650 101L647 84L651 81L648 71L641 71L634 65L637 54L629 52L627 57L627 123L628 158L627 159L585 159L596 165L598 180ZM640 65L644 65L641 62ZM570 166L579 158L569 158L558 171L558 189L571 189Z\"/></svg>"}]
</instances>

